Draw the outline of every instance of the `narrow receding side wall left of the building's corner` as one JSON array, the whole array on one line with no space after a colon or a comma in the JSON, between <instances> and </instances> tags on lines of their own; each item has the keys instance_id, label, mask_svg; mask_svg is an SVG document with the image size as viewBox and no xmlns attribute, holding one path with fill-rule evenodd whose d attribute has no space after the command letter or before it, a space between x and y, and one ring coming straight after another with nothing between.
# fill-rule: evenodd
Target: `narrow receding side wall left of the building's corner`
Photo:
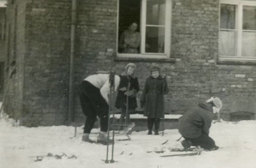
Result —
<instances>
[{"instance_id":1,"label":"narrow receding side wall left of the building's corner","mask_svg":"<svg viewBox=\"0 0 256 168\"><path fill-rule=\"evenodd\" d=\"M6 67L4 111L11 117L19 119L23 109L24 82L24 4L17 1L16 5L8 6L6 21ZM15 62L14 62L15 61ZM10 76L12 74L12 76Z\"/></svg>"}]
</instances>

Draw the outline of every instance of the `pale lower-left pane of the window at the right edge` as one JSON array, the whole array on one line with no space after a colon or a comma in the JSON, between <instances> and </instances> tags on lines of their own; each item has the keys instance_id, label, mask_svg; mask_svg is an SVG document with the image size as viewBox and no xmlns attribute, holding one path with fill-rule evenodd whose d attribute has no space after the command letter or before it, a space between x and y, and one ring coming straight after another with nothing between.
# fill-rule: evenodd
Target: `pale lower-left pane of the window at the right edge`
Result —
<instances>
[{"instance_id":1,"label":"pale lower-left pane of the window at the right edge","mask_svg":"<svg viewBox=\"0 0 256 168\"><path fill-rule=\"evenodd\" d=\"M234 56L235 51L235 31L220 31L219 33L219 55Z\"/></svg>"}]
</instances>

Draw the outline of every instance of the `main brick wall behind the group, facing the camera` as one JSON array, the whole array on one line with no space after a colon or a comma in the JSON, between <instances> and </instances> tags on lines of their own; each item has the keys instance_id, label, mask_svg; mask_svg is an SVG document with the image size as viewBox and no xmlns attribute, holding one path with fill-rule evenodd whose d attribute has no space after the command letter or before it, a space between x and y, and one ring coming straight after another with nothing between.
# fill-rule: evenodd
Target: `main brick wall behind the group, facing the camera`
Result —
<instances>
[{"instance_id":1,"label":"main brick wall behind the group, facing the camera","mask_svg":"<svg viewBox=\"0 0 256 168\"><path fill-rule=\"evenodd\" d=\"M19 16L24 17L19 24L25 24L16 43L23 43L24 47L17 47L16 57L23 58L24 64L20 61L23 75L16 73L15 79L20 82L14 82L13 87L17 90L15 94L22 93L22 98L16 100L23 102L21 123L64 124L68 113L71 1L27 0L23 5L20 2L16 0L14 4L19 6L18 12L25 11ZM158 64L170 88L165 96L167 113L182 114L211 96L223 100L225 120L230 119L231 112L255 113L255 65L218 63L218 0L172 0L172 60L116 57L116 16L117 0L78 0L75 86L98 71L114 69L120 74L127 63L133 62L138 66L140 97L150 67ZM75 117L79 118L82 113L76 87L75 93Z\"/></svg>"}]
</instances>

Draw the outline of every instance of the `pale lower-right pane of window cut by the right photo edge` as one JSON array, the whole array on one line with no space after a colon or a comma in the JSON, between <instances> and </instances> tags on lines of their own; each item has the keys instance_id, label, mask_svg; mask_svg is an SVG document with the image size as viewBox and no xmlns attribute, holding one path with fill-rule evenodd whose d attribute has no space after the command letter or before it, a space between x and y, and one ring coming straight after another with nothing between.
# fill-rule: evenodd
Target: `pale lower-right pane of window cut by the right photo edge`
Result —
<instances>
[{"instance_id":1,"label":"pale lower-right pane of window cut by the right photo edge","mask_svg":"<svg viewBox=\"0 0 256 168\"><path fill-rule=\"evenodd\" d=\"M243 32L242 56L256 57L256 32Z\"/></svg>"}]
</instances>

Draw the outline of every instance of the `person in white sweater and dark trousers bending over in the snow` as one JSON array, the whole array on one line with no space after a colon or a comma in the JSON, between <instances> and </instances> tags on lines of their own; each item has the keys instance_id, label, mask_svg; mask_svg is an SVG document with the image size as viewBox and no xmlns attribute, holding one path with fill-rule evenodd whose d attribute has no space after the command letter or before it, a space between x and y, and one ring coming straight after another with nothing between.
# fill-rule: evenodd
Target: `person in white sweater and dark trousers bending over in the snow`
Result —
<instances>
[{"instance_id":1,"label":"person in white sweater and dark trousers bending over in the snow","mask_svg":"<svg viewBox=\"0 0 256 168\"><path fill-rule=\"evenodd\" d=\"M115 91L117 89L125 91L127 85L128 78L126 76L115 75ZM100 118L100 133L97 143L105 145L107 142L113 143L106 134L108 131L108 94L110 94L109 74L88 76L78 85L78 88L82 111L86 116L82 141L94 143L89 139L89 135L98 116Z\"/></svg>"}]
</instances>

